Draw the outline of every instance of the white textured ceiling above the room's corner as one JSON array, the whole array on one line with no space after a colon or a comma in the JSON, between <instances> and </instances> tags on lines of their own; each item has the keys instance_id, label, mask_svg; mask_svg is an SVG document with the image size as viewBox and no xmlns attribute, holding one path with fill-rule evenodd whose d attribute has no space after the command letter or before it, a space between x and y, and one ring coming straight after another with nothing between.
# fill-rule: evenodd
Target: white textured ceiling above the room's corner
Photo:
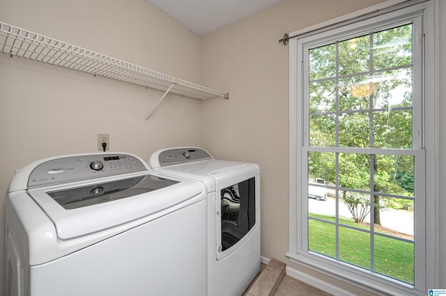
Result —
<instances>
[{"instance_id":1,"label":"white textured ceiling above the room's corner","mask_svg":"<svg viewBox=\"0 0 446 296\"><path fill-rule=\"evenodd\" d=\"M198 35L243 19L283 0L146 0Z\"/></svg>"}]
</instances>

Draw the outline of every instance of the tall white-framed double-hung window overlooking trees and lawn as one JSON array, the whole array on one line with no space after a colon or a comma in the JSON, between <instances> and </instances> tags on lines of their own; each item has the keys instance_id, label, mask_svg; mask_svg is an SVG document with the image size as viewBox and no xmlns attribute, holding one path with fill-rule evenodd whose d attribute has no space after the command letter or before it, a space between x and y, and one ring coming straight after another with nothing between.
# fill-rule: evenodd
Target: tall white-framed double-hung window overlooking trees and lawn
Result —
<instances>
[{"instance_id":1,"label":"tall white-framed double-hung window overlooking trees and lawn","mask_svg":"<svg viewBox=\"0 0 446 296\"><path fill-rule=\"evenodd\" d=\"M424 8L290 48L289 257L387 293L426 291Z\"/></svg>"}]
</instances>

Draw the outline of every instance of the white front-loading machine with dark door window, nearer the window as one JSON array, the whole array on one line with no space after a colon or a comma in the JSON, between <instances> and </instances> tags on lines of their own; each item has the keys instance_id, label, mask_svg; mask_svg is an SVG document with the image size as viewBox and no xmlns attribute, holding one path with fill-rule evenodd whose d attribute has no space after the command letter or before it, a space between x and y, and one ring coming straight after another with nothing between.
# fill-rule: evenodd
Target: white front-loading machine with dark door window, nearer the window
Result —
<instances>
[{"instance_id":1,"label":"white front-loading machine with dark door window, nearer the window","mask_svg":"<svg viewBox=\"0 0 446 296\"><path fill-rule=\"evenodd\" d=\"M208 295L240 296L260 270L260 167L219 161L197 147L152 154L160 174L208 188Z\"/></svg>"}]
</instances>

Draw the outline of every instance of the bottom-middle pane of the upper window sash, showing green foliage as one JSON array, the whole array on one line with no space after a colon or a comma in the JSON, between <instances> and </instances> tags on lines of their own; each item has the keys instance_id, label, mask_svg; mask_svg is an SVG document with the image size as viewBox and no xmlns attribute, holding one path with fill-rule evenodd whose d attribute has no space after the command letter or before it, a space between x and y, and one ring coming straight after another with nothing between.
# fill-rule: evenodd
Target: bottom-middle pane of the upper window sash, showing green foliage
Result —
<instances>
[{"instance_id":1,"label":"bottom-middle pane of the upper window sash, showing green foliage","mask_svg":"<svg viewBox=\"0 0 446 296\"><path fill-rule=\"evenodd\" d=\"M339 146L369 147L369 113L339 115Z\"/></svg>"}]
</instances>

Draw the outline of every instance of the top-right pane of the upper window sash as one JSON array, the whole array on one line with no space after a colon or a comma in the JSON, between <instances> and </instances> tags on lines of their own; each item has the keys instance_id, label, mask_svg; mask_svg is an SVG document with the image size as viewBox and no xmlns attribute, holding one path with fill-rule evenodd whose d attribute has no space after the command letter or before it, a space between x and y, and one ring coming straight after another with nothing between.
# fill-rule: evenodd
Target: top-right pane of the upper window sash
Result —
<instances>
[{"instance_id":1,"label":"top-right pane of the upper window sash","mask_svg":"<svg viewBox=\"0 0 446 296\"><path fill-rule=\"evenodd\" d=\"M374 68L412 63L412 24L374 33Z\"/></svg>"}]
</instances>

